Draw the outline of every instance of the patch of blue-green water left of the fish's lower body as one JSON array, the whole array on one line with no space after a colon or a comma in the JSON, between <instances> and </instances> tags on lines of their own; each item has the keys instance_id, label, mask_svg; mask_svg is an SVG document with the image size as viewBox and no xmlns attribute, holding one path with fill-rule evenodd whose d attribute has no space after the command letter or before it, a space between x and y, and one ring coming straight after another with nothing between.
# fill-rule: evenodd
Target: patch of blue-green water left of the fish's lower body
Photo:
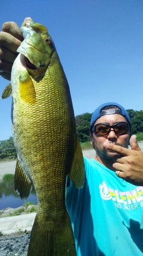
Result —
<instances>
[{"instance_id":1,"label":"patch of blue-green water left of the fish's lower body","mask_svg":"<svg viewBox=\"0 0 143 256\"><path fill-rule=\"evenodd\" d=\"M20 207L27 201L38 203L34 188L27 199L21 200L20 196L14 191L14 179L0 180L0 210L8 207Z\"/></svg>"}]
</instances>

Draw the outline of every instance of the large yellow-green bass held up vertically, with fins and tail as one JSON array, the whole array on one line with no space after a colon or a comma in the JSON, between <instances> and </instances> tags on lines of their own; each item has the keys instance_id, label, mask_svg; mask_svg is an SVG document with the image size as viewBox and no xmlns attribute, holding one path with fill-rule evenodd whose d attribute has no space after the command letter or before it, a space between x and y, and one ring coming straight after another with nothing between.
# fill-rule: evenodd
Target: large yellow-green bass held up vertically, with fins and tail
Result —
<instances>
[{"instance_id":1,"label":"large yellow-green bass held up vertically, with fins and tail","mask_svg":"<svg viewBox=\"0 0 143 256\"><path fill-rule=\"evenodd\" d=\"M28 256L76 255L66 209L66 180L80 189L85 181L69 83L45 26L26 20L24 40L1 98L12 95L11 127L17 164L14 188L27 198L32 186L38 212Z\"/></svg>"}]
</instances>

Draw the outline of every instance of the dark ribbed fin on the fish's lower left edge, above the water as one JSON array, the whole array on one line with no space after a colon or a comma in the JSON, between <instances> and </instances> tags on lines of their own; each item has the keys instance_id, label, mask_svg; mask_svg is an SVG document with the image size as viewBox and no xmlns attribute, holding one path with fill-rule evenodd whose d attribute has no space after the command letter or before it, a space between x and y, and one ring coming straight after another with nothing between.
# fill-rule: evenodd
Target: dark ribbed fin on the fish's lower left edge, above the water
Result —
<instances>
[{"instance_id":1,"label":"dark ribbed fin on the fish's lower left edge, above the water","mask_svg":"<svg viewBox=\"0 0 143 256\"><path fill-rule=\"evenodd\" d=\"M32 190L32 181L21 168L20 162L17 160L14 175L14 189L20 195L21 199L29 197Z\"/></svg>"}]
</instances>

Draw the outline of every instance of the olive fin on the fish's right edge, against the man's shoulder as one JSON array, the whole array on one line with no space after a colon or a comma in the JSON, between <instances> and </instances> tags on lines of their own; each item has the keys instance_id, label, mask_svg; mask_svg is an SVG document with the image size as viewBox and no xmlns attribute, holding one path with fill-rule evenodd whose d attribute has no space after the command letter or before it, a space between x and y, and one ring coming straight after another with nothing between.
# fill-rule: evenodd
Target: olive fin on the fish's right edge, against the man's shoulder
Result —
<instances>
[{"instance_id":1,"label":"olive fin on the fish's right edge, against the man's shoulder","mask_svg":"<svg viewBox=\"0 0 143 256\"><path fill-rule=\"evenodd\" d=\"M69 177L76 188L82 188L85 182L85 164L83 161L82 149L76 135L76 146L74 159L71 166Z\"/></svg>"}]
</instances>

